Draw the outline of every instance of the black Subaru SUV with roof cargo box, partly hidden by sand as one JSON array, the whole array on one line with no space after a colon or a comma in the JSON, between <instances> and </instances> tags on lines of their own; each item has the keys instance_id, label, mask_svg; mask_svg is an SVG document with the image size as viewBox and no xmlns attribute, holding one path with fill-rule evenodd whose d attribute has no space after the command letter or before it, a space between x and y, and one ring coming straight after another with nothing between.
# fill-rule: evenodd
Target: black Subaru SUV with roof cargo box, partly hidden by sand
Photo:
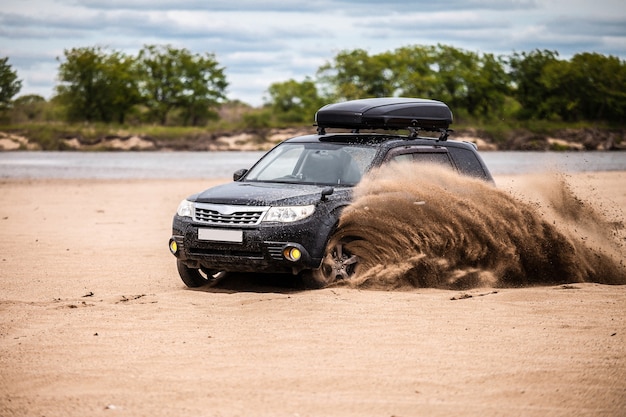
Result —
<instances>
[{"instance_id":1,"label":"black Subaru SUV with roof cargo box, partly hidden by sand","mask_svg":"<svg viewBox=\"0 0 626 417\"><path fill-rule=\"evenodd\" d=\"M187 286L214 282L227 272L300 274L314 287L350 278L358 258L342 241L329 242L352 188L381 164L440 163L493 182L473 144L447 140L452 113L440 101L346 101L322 107L315 120L316 135L288 139L249 170L235 172L233 182L180 203L169 246ZM422 137L420 130L437 133Z\"/></svg>"}]
</instances>

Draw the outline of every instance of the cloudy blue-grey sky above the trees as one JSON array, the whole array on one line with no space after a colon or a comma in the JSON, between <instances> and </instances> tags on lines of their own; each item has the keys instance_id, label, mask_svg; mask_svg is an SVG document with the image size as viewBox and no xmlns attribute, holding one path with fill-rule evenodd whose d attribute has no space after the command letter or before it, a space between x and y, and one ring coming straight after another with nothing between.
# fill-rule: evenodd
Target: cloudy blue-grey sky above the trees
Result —
<instances>
[{"instance_id":1,"label":"cloudy blue-grey sky above the trees","mask_svg":"<svg viewBox=\"0 0 626 417\"><path fill-rule=\"evenodd\" d=\"M597 52L626 59L624 0L2 0L0 57L23 94L53 94L65 49L145 44L214 53L227 95L263 103L273 82L306 76L342 50L370 54L438 43L564 59Z\"/></svg>"}]
</instances>

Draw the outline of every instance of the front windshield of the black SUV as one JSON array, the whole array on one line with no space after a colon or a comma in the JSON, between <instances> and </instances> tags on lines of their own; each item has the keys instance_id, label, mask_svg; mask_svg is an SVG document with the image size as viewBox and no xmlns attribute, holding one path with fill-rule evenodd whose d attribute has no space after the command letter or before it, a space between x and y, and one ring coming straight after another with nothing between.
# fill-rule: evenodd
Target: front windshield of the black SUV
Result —
<instances>
[{"instance_id":1,"label":"front windshield of the black SUV","mask_svg":"<svg viewBox=\"0 0 626 417\"><path fill-rule=\"evenodd\" d=\"M246 181L355 185L376 148L342 143L283 143L261 159Z\"/></svg>"}]
</instances>

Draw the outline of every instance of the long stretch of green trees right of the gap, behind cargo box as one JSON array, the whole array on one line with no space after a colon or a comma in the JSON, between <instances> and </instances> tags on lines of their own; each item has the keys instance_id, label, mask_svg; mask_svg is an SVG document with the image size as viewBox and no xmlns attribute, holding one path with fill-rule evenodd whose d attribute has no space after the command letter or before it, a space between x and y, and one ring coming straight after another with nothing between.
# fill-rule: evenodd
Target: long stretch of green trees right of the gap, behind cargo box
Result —
<instances>
[{"instance_id":1,"label":"long stretch of green trees right of the gap, behind cargo box","mask_svg":"<svg viewBox=\"0 0 626 417\"><path fill-rule=\"evenodd\" d=\"M294 121L329 101L405 96L444 101L470 122L619 124L626 121L626 63L597 53L563 60L548 50L496 56L445 45L373 55L356 49L338 53L314 79L276 83L269 94L272 109Z\"/></svg>"}]
</instances>

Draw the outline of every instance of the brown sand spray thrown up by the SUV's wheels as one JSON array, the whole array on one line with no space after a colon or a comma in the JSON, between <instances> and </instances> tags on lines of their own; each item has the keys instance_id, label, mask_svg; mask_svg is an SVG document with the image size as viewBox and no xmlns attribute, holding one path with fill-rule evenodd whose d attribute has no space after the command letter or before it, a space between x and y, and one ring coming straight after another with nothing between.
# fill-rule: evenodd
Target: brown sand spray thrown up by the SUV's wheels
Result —
<instances>
[{"instance_id":1,"label":"brown sand spray thrown up by the SUV's wheels","mask_svg":"<svg viewBox=\"0 0 626 417\"><path fill-rule=\"evenodd\" d=\"M334 238L357 255L338 285L397 289L626 284L623 237L561 178L543 179L546 207L431 165L368 174ZM550 183L548 187L546 184ZM623 223L621 224L623 232Z\"/></svg>"}]
</instances>

